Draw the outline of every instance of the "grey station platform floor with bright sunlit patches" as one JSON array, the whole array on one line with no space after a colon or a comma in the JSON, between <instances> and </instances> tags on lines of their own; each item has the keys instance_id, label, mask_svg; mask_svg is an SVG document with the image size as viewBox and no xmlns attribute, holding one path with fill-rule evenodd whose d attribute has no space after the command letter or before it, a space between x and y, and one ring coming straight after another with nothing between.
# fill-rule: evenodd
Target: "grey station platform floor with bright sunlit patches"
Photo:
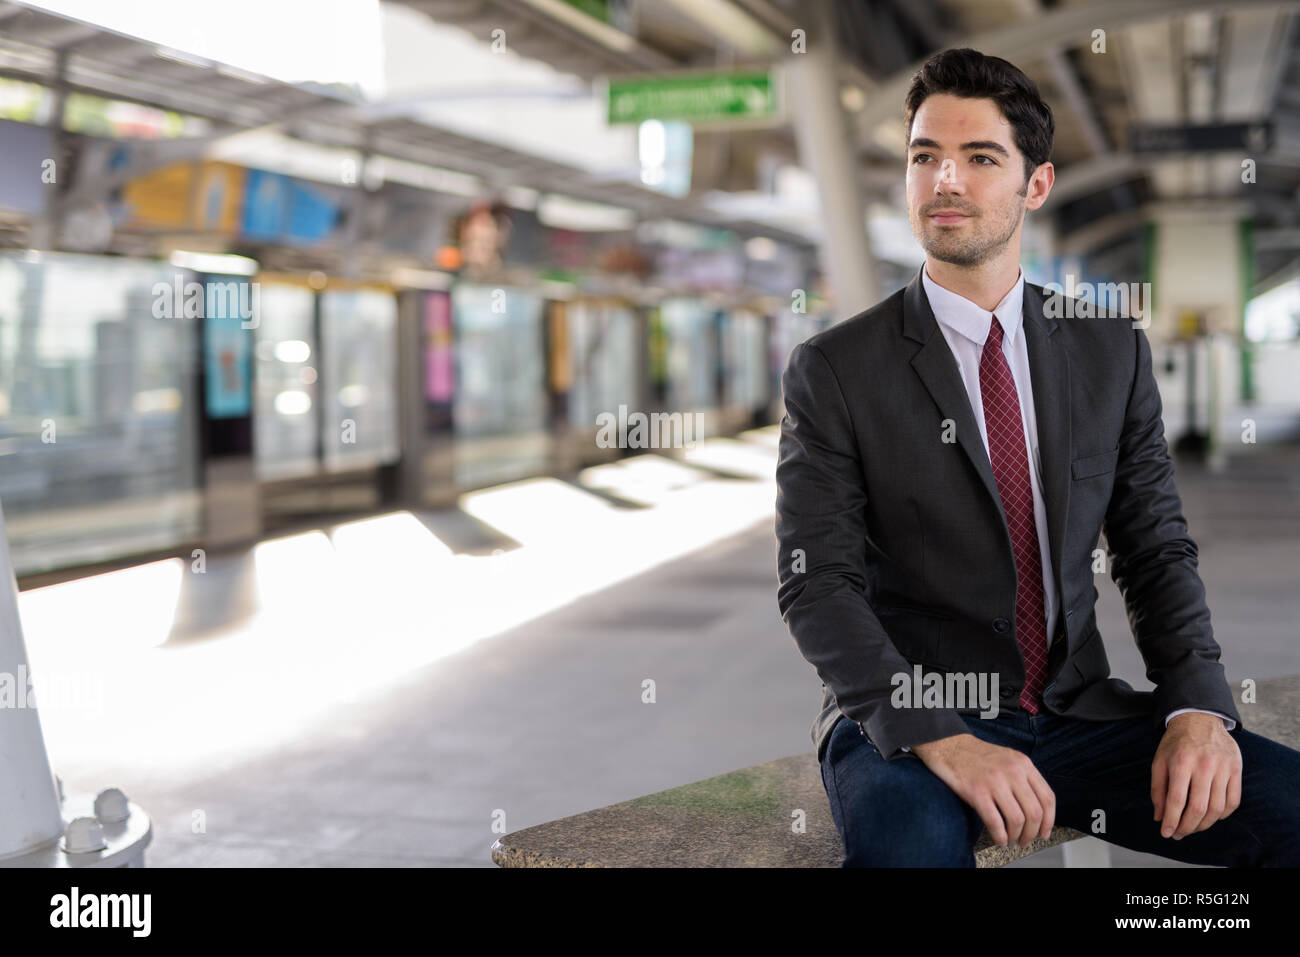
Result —
<instances>
[{"instance_id":1,"label":"grey station platform floor with bright sunlit patches","mask_svg":"<svg viewBox=\"0 0 1300 957\"><path fill-rule=\"evenodd\" d=\"M490 867L494 823L811 750L820 683L776 607L776 441L23 592L51 763L152 815L152 866ZM1230 680L1300 672L1300 447L1176 480ZM1149 688L1098 592L1113 674Z\"/></svg>"}]
</instances>

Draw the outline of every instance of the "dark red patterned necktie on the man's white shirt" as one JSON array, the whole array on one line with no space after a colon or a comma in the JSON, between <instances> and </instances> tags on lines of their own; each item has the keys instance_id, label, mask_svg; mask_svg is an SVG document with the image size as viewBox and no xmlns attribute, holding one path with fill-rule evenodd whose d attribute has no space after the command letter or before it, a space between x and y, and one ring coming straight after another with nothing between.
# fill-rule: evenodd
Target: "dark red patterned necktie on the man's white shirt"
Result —
<instances>
[{"instance_id":1,"label":"dark red patterned necktie on the man's white shirt","mask_svg":"<svg viewBox=\"0 0 1300 957\"><path fill-rule=\"evenodd\" d=\"M1006 528L1015 554L1015 637L1024 658L1024 688L1020 707L1037 714L1048 671L1048 627L1043 606L1043 557L1039 529L1034 524L1034 492L1030 459L1024 452L1024 423L1015 380L1002 355L1002 324L993 317L979 360L979 389L988 432L988 458L1002 498Z\"/></svg>"}]
</instances>

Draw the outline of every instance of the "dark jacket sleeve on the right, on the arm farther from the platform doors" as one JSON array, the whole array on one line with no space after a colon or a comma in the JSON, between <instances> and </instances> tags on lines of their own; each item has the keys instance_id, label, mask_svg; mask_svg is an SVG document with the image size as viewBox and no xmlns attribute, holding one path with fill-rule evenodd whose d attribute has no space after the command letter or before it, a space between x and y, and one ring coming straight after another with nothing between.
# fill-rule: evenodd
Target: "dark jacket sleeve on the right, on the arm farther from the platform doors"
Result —
<instances>
[{"instance_id":1,"label":"dark jacket sleeve on the right, on the arm farther from the platform doors","mask_svg":"<svg viewBox=\"0 0 1300 957\"><path fill-rule=\"evenodd\" d=\"M1213 710L1240 727L1196 568L1196 542L1174 486L1150 343L1143 329L1135 333L1134 384L1102 523L1110 577L1123 596L1147 677L1156 685L1157 714Z\"/></svg>"}]
</instances>

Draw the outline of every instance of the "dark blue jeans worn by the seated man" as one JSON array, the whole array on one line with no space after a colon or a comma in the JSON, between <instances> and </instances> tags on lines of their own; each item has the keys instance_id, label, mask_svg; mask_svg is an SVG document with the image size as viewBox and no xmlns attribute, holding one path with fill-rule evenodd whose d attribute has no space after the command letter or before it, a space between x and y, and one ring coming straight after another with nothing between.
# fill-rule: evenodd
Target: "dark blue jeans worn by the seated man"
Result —
<instances>
[{"instance_id":1,"label":"dark blue jeans worn by the seated man","mask_svg":"<svg viewBox=\"0 0 1300 957\"><path fill-rule=\"evenodd\" d=\"M1015 748L1056 794L1056 823L1122 848L1187 863L1300 866L1300 752L1242 728L1242 804L1182 840L1153 820L1150 762L1164 733L1154 718L1084 722L1019 709L963 715L976 737ZM845 867L974 867L983 820L914 754L885 761L841 718L822 758ZM1105 830L1093 831L1095 813Z\"/></svg>"}]
</instances>

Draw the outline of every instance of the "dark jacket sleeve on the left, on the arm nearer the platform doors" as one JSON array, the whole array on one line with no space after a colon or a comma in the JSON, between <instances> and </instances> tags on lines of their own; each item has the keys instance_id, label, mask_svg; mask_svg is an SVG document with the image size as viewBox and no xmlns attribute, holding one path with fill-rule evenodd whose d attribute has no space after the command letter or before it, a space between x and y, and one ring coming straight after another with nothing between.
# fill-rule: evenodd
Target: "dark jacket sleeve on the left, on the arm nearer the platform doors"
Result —
<instances>
[{"instance_id":1,"label":"dark jacket sleeve on the left, on the arm nearer the platform doors","mask_svg":"<svg viewBox=\"0 0 1300 957\"><path fill-rule=\"evenodd\" d=\"M866 478L852 416L824 354L800 343L781 376L776 464L777 605L800 653L840 710L887 759L968 733L954 709L896 709L894 675L911 664L866 596Z\"/></svg>"}]
</instances>

